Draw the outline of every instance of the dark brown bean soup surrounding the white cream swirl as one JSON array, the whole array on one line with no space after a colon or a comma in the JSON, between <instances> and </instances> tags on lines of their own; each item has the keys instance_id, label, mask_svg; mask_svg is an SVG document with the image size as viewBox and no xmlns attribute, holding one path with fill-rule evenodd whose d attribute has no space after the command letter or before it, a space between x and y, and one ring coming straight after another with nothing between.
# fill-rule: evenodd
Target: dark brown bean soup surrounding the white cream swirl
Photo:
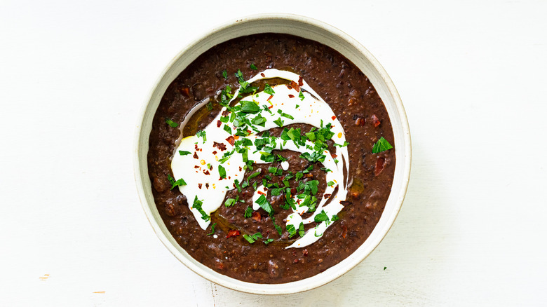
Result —
<instances>
[{"instance_id":1,"label":"dark brown bean soup surrounding the white cream swirl","mask_svg":"<svg viewBox=\"0 0 547 307\"><path fill-rule=\"evenodd\" d=\"M318 184L313 198L319 202L330 196L323 194L328 183L320 161L297 151L273 150L271 154L276 160L249 163L241 180L247 182L246 186L238 186L226 194L225 200L237 201L230 205L223 203L207 216L210 226L206 230L198 225L189 209L189 205L196 207L196 202L177 189L177 178L173 179L171 170L173 155L179 154L175 151L180 124L189 110L210 98L184 126L185 137L196 135L220 114L224 93L234 93L242 86L243 79L248 80L266 69L292 71L301 76L327 102L342 124L349 143L349 167L344 168L344 179L348 182L344 207L336 219L327 221L332 224L323 236L305 247L286 248L302 236L302 230L308 231L312 225L296 229L296 233L285 228L285 219L290 214L290 210L286 210L285 193L301 193L306 182L315 181ZM264 81L269 86L288 83L281 79ZM256 87L255 92L264 90L267 88L264 81L250 86ZM306 123L292 123L271 128L268 133L283 137L283 131L286 135L287 130L301 132L303 139L307 132L318 131ZM307 138L310 139L309 135ZM336 156L334 144L327 140L324 145L333 157ZM256 34L210 48L168 86L154 116L148 168L158 211L177 243L191 257L238 280L276 284L323 272L365 242L379 221L391 191L396 161L393 144L391 122L383 102L367 76L346 57L330 47L297 36ZM285 160L290 161L290 166L281 170ZM272 169L279 172L272 173ZM257 170L261 172L251 177ZM302 173L299 178L293 176L298 172ZM264 207L252 210L256 183L283 187L278 195L266 194L271 210ZM306 212L303 217L310 214L312 212Z\"/></svg>"}]
</instances>

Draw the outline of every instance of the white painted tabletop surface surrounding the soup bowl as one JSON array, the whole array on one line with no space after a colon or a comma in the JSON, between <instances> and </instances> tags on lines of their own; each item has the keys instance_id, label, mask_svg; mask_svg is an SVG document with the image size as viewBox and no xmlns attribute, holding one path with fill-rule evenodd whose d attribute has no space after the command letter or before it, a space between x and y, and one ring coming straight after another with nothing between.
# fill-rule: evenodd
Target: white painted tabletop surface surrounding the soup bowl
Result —
<instances>
[{"instance_id":1,"label":"white painted tabletop surface surrounding the soup bowl","mask_svg":"<svg viewBox=\"0 0 547 307\"><path fill-rule=\"evenodd\" d=\"M377 57L413 161L370 257L318 289L257 296L163 247L132 146L172 57L215 25L274 12L323 20ZM546 1L1 1L0 305L545 306L546 13Z\"/></svg>"}]
</instances>

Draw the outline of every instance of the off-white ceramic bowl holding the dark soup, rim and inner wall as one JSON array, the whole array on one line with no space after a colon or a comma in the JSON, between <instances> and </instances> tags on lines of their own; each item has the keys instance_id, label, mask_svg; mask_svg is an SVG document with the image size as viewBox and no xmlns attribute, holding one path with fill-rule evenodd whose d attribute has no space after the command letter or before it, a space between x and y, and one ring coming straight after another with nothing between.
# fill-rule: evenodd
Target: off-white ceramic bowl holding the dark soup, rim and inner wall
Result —
<instances>
[{"instance_id":1,"label":"off-white ceramic bowl holding the dark soup, rim and inner wall","mask_svg":"<svg viewBox=\"0 0 547 307\"><path fill-rule=\"evenodd\" d=\"M148 175L147 153L149 144L149 135L152 128L152 118L158 107L158 104L165 93L168 85L183 71L192 61L212 46L234 39L238 36L245 36L258 33L284 33L304 37L323 43L342 53L353 64L356 64L361 71L370 79L374 88L376 88L381 99L384 101L386 109L393 125L393 135L395 137L396 165L395 177L391 194L386 203L384 213L372 231L370 237L353 254L339 264L328 268L323 273L319 273L304 280L288 282L277 285L257 284L243 282L230 278L213 271L192 258L180 245L177 244L173 236L169 233L166 225L163 223L151 191L151 182ZM253 15L248 18L229 22L225 25L213 29L211 32L203 35L201 39L194 41L187 48L182 50L166 67L156 85L151 90L149 97L144 103L140 121L137 125L137 135L135 139L135 181L137 190L142 202L142 207L156 235L161 242L166 245L168 250L177 257L183 264L192 271L224 287L229 287L242 292L255 294L290 294L302 292L335 280L342 274L349 271L367 257L372 250L386 236L391 228L393 221L397 217L403 198L407 190L408 179L410 177L410 131L408 128L405 109L400 101L400 97L388 74L381 67L379 62L360 45L344 32L311 18L299 15L288 14L267 14Z\"/></svg>"}]
</instances>

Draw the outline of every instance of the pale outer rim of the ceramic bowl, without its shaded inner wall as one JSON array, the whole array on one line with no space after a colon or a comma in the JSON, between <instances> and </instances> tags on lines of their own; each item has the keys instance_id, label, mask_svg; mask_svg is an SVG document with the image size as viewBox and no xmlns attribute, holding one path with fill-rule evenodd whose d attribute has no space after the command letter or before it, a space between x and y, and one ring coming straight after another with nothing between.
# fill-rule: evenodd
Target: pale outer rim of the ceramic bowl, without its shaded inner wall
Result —
<instances>
[{"instance_id":1,"label":"pale outer rim of the ceramic bowl, without its shaded inner wall","mask_svg":"<svg viewBox=\"0 0 547 307\"><path fill-rule=\"evenodd\" d=\"M194 48L198 43L203 41L203 39L207 38L208 36L211 36L213 34L216 34L217 32L222 32L224 29L228 29L230 27L234 27L239 24L244 24L248 22L257 22L257 21L267 21L267 20L287 20L292 22L302 22L307 25L311 25L313 27L317 27L319 29L323 29L326 32L329 32L332 35L338 36L340 39L346 41L349 43L349 45L356 50L358 50L359 53L361 53L369 62L372 64L372 67L379 73L379 76L382 81L386 84L386 87L389 90L389 95L393 98L393 102L396 107L396 112L398 113L401 128L403 130L403 142L405 144L405 151L404 151L404 158L405 163L403 165L403 173L401 175L402 177L402 183L400 187L400 191L398 193L398 196L396 196L396 205L393 207L392 212L389 213L389 217L386 220L386 226L384 226L383 229L381 229L381 233L379 233L379 236L377 236L377 239L372 243L370 250L367 253L363 253L358 259L354 259L353 263L350 266L346 266L344 270L334 271L331 275L329 275L327 278L316 278L316 280L313 280L313 282L310 282L309 284L304 285L303 287L285 287L286 289L284 291L281 291L280 289L276 289L276 285L291 285L294 283L299 282L299 284L302 285L303 280L311 280L312 278L315 278L318 276L318 274L313 275L309 278L304 278L303 280L297 280L293 282L286 282L283 284L259 284L255 282L243 282L241 280L237 280L235 278L231 278L227 275L223 275L221 273L217 273L216 271L212 271L213 273L204 271L203 268L196 266L191 259L188 259L183 254L181 254L175 246L168 240L165 233L161 230L161 226L158 224L158 221L154 218L154 215L151 212L150 205L147 201L147 197L145 195L144 191L144 185L142 182L142 169L140 168L140 139L142 135L142 124L144 123L145 115L147 113L148 105L150 104L152 98L154 97L154 92L156 91L156 88L161 83L162 79L168 72L173 69L173 66L175 63L182 57L187 51ZM296 15L296 14L290 14L290 13L261 13L261 14L254 14L254 15L247 15L241 18L235 18L232 20L229 20L227 22L222 23L221 25L218 25L217 27L213 27L212 29L201 32L194 36L194 40L188 43L182 50L180 50L175 57L173 57L172 60L166 65L165 69L161 71L158 78L154 82L153 86L149 90L149 94L146 96L141 109L139 116L137 117L137 125L135 128L135 139L133 144L133 168L134 168L134 176L135 176L135 184L137 187L137 193L140 198L140 203L142 205L142 209L144 210L144 214L146 215L149 223L151 224L154 233L156 233L156 236L158 236L159 240L165 247L177 258L179 261L182 262L187 268L189 268L191 271L194 271L194 273L200 275L201 277L205 278L206 280L209 280L211 282L215 282L217 285L222 285L223 287L227 287L229 289L234 289L239 292L246 292L251 294L292 294L292 293L298 293L298 292L305 292L309 291L311 289L315 289L317 287L320 287L322 285L326 285L329 282L332 282L333 280L336 280L340 276L344 275L345 273L351 271L352 268L360 264L365 258L367 258L381 243L382 240L386 237L386 234L389 232L391 227L394 224L395 219L397 218L400 208L403 205L403 200L405 198L405 194L408 189L408 182L410 180L410 169L412 165L412 143L410 138L410 127L408 124L405 108L403 107L403 102L400 99L400 96L398 94L398 91L395 87L395 84L393 81L391 81L391 78L385 71L384 67L381 66L381 64L378 62L378 60L356 39L353 39L353 37L349 36L349 34L346 34L345 32L342 32L342 30L337 29L336 27L327 24L326 22L316 20L314 18L309 18L303 15ZM147 146L148 149L148 146ZM148 174L146 174L148 175ZM393 193L393 191L391 191ZM385 212L385 211L384 211ZM382 215L384 214L382 212ZM376 226L374 227L376 229ZM367 240L370 240L371 238L367 238ZM365 242L367 241L365 240ZM356 250L357 252L357 250ZM344 261L351 258L353 254L356 252L353 252L349 257L346 259L343 259L338 264L344 263ZM191 257L191 256L189 256ZM195 260L195 259L194 259ZM332 266L331 268L336 267L338 264L335 264L335 266ZM203 264L201 264L203 266ZM229 280L228 282L225 280L220 279L216 275L222 275L222 278ZM234 284L239 285L234 285Z\"/></svg>"}]
</instances>

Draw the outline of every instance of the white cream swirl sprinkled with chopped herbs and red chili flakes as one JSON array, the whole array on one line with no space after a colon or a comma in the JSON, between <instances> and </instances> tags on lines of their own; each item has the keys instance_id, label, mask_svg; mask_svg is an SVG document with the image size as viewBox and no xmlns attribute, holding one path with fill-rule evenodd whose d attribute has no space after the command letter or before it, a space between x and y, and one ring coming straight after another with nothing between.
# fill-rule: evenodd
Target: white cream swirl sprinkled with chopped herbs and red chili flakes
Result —
<instances>
[{"instance_id":1,"label":"white cream swirl sprinkled with chopped herbs and red chili flakes","mask_svg":"<svg viewBox=\"0 0 547 307\"><path fill-rule=\"evenodd\" d=\"M306 123L318 129L330 128L333 133L331 139L336 144L341 145L336 146L336 158L325 149L322 153L318 153L314 150L315 143L311 142L313 140L309 138L303 137L302 141L293 142L292 139L286 139L286 137L285 139L269 137L270 151L278 149L297 151L310 156L324 155L324 159L320 159L320 161L322 161L323 168L325 168L326 181L331 185L327 185L320 202L313 204L315 208L312 209L315 209L315 211L307 219L302 219L302 214L311 209L311 204L302 205L304 203L302 198L298 199L296 195L292 196L292 199L295 200L295 207L290 208L292 213L286 219L285 228L293 229L292 227L294 227L296 231L302 227L301 224L317 224L286 248L305 247L323 236L325 230L335 222L336 214L344 207L342 201L346 200L347 195L347 180L344 182L344 168L349 170L349 156L347 146L345 146L347 144L346 136L342 124L338 121L332 109L301 76L290 71L266 69L247 80L246 84L260 79L272 78L292 81L293 85L296 83L298 86L280 84L271 86L271 90L242 94L241 101L234 107L245 107L243 109L250 111L248 114L250 123L259 123L257 125L248 125L246 129L247 133L250 134L247 136L236 135L238 128L241 134L243 123L232 121L235 116L233 116L233 112L229 111L230 107L223 107L217 117L204 130L180 140L180 144L173 155L171 169L175 180L183 179L187 183L187 185L179 186L180 192L186 196L191 212L198 224L201 228L206 229L210 224L210 214L223 204L227 191L236 189L236 185L243 183L245 172L252 173L256 171L248 170L248 161L268 163L263 160L268 153L264 151L261 144L264 137L259 137L259 132L292 123ZM240 87L236 90L230 102L238 97L241 89ZM275 93L272 94L272 92ZM191 114L206 102L208 100L189 111L187 119L181 124L181 130ZM252 102L255 106L249 102ZM243 106L243 104L246 105ZM259 111L256 111L257 109ZM259 118L255 119L255 117ZM250 142L245 141L247 144L234 145L234 141L237 142L242 139L248 139ZM288 169L288 163L287 161L281 163L283 171ZM338 191L334 193L337 187ZM266 194L267 196L268 190L271 191L271 189L264 189L262 184L257 186L253 196L254 210L262 207L256 201L259 200L261 195ZM330 203L325 205L329 200Z\"/></svg>"}]
</instances>

